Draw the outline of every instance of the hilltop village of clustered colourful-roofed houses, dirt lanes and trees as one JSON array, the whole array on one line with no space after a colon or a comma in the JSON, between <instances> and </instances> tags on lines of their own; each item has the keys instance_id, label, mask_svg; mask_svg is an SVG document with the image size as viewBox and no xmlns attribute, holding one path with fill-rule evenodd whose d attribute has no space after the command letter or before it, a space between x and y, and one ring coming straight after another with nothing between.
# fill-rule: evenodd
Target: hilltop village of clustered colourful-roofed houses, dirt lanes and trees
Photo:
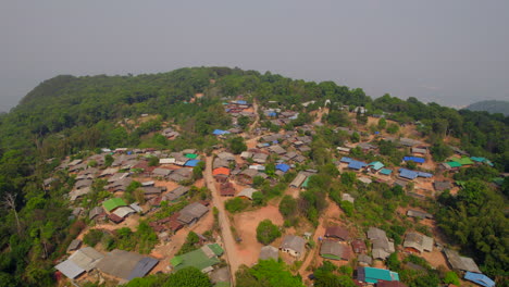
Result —
<instances>
[{"instance_id":1,"label":"hilltop village of clustered colourful-roofed houses, dirt lanes and trees","mask_svg":"<svg viewBox=\"0 0 509 287\"><path fill-rule=\"evenodd\" d=\"M451 152L437 161L422 123L368 116L364 107L222 100L232 124L211 133L207 150L181 142L48 160L55 167L45 189L70 187L74 224L54 263L60 286L115 286L189 266L213 286L249 286L250 270L268 262L305 286L333 273L346 280L337 286L401 287L432 271L443 286L495 286L443 234L434 208L489 159L450 137ZM164 122L151 136L182 133ZM486 180L497 188L502 177Z\"/></svg>"}]
</instances>

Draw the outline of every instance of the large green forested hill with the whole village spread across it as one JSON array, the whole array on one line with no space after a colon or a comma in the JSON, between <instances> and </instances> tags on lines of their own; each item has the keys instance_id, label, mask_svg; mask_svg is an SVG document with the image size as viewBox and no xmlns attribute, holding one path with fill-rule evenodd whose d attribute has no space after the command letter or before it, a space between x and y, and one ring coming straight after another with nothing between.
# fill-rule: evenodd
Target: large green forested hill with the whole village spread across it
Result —
<instances>
[{"instance_id":1,"label":"large green forested hill with the whole village spread across it","mask_svg":"<svg viewBox=\"0 0 509 287\"><path fill-rule=\"evenodd\" d=\"M187 67L57 76L0 135L0 286L352 286L361 259L465 286L442 247L509 269L509 117Z\"/></svg>"}]
</instances>

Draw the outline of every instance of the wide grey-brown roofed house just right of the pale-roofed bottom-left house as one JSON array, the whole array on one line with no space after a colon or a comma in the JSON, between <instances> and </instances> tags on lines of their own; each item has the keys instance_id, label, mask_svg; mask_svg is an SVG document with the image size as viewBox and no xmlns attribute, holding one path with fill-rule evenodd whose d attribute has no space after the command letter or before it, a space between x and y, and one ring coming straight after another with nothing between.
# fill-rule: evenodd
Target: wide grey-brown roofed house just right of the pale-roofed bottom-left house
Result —
<instances>
[{"instance_id":1,"label":"wide grey-brown roofed house just right of the pale-roofed bottom-left house","mask_svg":"<svg viewBox=\"0 0 509 287\"><path fill-rule=\"evenodd\" d=\"M114 249L97 264L97 270L120 280L128 282L144 277L158 264L159 260L157 259Z\"/></svg>"}]
</instances>

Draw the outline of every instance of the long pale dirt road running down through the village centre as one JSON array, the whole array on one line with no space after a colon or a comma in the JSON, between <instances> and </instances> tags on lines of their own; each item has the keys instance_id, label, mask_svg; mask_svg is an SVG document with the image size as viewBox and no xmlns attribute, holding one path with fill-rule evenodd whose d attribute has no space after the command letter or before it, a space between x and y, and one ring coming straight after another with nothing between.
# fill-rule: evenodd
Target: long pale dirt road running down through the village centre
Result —
<instances>
[{"instance_id":1,"label":"long pale dirt road running down through the village centre","mask_svg":"<svg viewBox=\"0 0 509 287\"><path fill-rule=\"evenodd\" d=\"M207 158L207 169L204 172L204 179L207 187L212 192L212 203L219 210L219 225L221 227L221 237L223 240L223 248L226 261L229 265L229 274L232 276L232 283L235 286L235 273L238 270L239 261L237 249L235 246L235 240L232 234L232 229L228 217L226 216L226 211L224 210L224 204L222 204L220 195L215 189L214 178L212 177L212 157Z\"/></svg>"}]
</instances>

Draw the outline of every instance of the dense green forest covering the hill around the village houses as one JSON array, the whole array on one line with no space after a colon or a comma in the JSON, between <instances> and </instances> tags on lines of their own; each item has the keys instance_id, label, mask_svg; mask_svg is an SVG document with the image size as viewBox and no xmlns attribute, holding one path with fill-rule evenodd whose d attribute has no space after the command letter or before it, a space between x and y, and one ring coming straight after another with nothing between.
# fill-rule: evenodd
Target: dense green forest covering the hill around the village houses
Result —
<instances>
[{"instance_id":1,"label":"dense green forest covering the hill around the village houses","mask_svg":"<svg viewBox=\"0 0 509 287\"><path fill-rule=\"evenodd\" d=\"M193 101L198 92L204 98ZM417 124L437 154L451 152L444 138L454 137L459 139L451 144L457 148L491 159L492 172L509 172L509 117L502 114L457 111L389 95L372 99L360 88L333 82L295 80L270 72L228 67L181 68L138 76L61 75L41 83L16 108L0 115L0 286L51 286L54 260L85 226L84 222L70 220L63 197L72 187L72 178L62 174L54 188L44 188L42 180L60 160L98 148L177 150L183 142L204 151L216 144L211 132L231 124L222 107L223 98L237 95L260 102L276 101L297 111L303 111L300 103L307 101L314 101L308 110L323 107L326 100L332 111L344 105L365 107L368 115L385 114L401 125ZM151 117L138 123L136 118L141 114ZM339 124L340 113L331 112L327 121ZM167 142L152 136L163 124L178 125L182 137ZM330 133L322 134L326 142ZM327 157L320 154L324 150L321 142L314 141L312 157L323 159L325 169ZM389 146L386 150L392 152ZM313 197L312 190L307 191L309 197ZM502 190L498 192L477 180L469 183L457 197L444 194L436 207L446 234L480 260L483 271L498 276L507 275L509 270L507 178ZM315 205L310 210L319 211L319 203ZM310 219L316 220L316 214ZM480 226L489 228L480 230ZM256 282L263 274L252 269L244 271L243 276ZM287 279L295 280L291 276Z\"/></svg>"}]
</instances>

